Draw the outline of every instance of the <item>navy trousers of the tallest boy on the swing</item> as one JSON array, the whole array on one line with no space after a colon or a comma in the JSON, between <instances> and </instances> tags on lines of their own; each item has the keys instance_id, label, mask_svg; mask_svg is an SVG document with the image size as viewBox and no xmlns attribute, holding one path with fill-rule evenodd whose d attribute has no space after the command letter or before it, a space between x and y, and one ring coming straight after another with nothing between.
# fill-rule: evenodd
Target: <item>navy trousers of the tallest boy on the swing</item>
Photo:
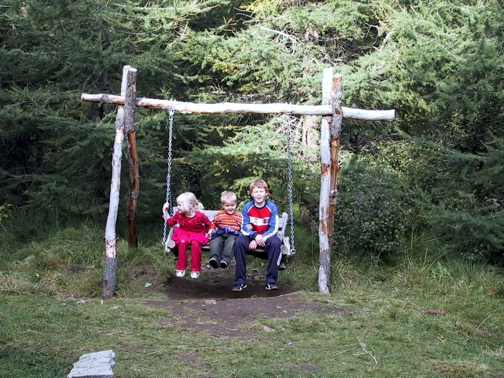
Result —
<instances>
[{"instance_id":1,"label":"navy trousers of the tallest boy on the swing","mask_svg":"<svg viewBox=\"0 0 504 378\"><path fill-rule=\"evenodd\" d=\"M247 282L247 253L254 255L254 251L248 251L248 244L251 239L248 236L240 235L234 241L234 259L236 260L236 270L234 272L234 284L243 284ZM276 283L278 280L278 266L282 260L280 248L282 242L278 236L271 236L266 239L266 245L263 249L268 255L268 271L266 273L266 283Z\"/></svg>"}]
</instances>

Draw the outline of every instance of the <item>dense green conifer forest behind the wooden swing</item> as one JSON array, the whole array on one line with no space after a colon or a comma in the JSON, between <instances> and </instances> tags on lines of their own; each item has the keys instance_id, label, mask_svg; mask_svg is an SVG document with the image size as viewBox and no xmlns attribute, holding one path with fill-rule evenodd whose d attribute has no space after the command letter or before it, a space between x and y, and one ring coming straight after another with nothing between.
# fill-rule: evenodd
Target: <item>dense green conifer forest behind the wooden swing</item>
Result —
<instances>
[{"instance_id":1,"label":"dense green conifer forest behind the wooden swing","mask_svg":"<svg viewBox=\"0 0 504 378\"><path fill-rule=\"evenodd\" d=\"M18 241L55 221L103 227L116 107L80 95L118 94L124 65L138 69L143 97L293 104L320 104L322 71L334 67L344 106L397 114L392 123L344 121L339 253L396 256L423 235L443 253L503 262L496 0L28 0L0 12L0 220ZM296 218L311 221L317 244L320 119L291 121ZM167 113L139 108L136 126L138 222L150 240L165 200ZM176 114L172 192L218 208L226 189L244 203L259 176L285 210L286 135L283 117Z\"/></svg>"}]
</instances>

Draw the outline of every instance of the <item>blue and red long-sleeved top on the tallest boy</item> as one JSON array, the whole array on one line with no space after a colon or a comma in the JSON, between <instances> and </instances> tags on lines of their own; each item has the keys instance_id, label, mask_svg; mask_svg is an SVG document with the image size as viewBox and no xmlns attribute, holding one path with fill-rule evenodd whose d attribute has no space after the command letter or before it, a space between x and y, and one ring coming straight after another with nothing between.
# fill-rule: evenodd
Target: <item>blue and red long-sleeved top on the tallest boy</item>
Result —
<instances>
[{"instance_id":1,"label":"blue and red long-sleeved top on the tallest boy","mask_svg":"<svg viewBox=\"0 0 504 378\"><path fill-rule=\"evenodd\" d=\"M241 211L243 220L241 222L241 233L254 240L257 234L263 235L265 239L274 236L278 232L278 209L277 206L266 200L263 207L257 207L254 201L247 202ZM250 224L252 229L246 226Z\"/></svg>"}]
</instances>

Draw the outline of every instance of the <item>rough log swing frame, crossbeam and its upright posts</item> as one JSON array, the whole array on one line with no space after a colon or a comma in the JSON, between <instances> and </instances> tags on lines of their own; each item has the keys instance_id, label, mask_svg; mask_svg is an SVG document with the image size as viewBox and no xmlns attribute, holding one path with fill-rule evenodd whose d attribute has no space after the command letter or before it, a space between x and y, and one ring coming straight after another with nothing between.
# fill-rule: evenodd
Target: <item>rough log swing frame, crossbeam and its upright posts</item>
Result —
<instances>
[{"instance_id":1,"label":"rough log swing frame, crossbeam and its upright posts","mask_svg":"<svg viewBox=\"0 0 504 378\"><path fill-rule=\"evenodd\" d=\"M149 107L153 109L176 110L181 113L290 113L305 115L322 115L321 122L321 190L319 206L319 245L320 245L320 266L319 266L319 291L329 293L330 271L331 271L331 246L334 232L334 214L338 196L338 152L340 146L340 133L343 118L354 118L364 120L387 120L395 118L395 111L392 110L365 110L341 106L341 75L333 77L333 69L324 70L322 82L322 105L293 105L285 103L273 104L246 104L246 103L218 103L199 104L191 102L180 102L172 100L160 100L153 98L136 98L135 82L136 72L130 66L124 66L121 85L121 95L108 94L87 94L81 95L82 101L101 102L108 104L118 104L117 117L115 121L116 137L112 152L112 181L110 185L110 208L105 229L105 272L103 274L103 298L113 296L115 287L115 273L117 271L117 255L115 249L115 223L117 220L117 209L119 203L119 177L121 146L124 136L125 125L131 132L128 135L129 141L129 161L130 161L130 197L128 201L128 214L131 220L135 221L135 226L130 227L130 243L137 239L137 227L134 213L136 211L136 201L138 198L138 162L136 161L136 142L134 138L135 106ZM123 107L121 106L123 105ZM132 109L125 111L127 109ZM129 218L129 221L130 221ZM134 233L134 235L132 235ZM113 277L112 277L113 275Z\"/></svg>"}]
</instances>

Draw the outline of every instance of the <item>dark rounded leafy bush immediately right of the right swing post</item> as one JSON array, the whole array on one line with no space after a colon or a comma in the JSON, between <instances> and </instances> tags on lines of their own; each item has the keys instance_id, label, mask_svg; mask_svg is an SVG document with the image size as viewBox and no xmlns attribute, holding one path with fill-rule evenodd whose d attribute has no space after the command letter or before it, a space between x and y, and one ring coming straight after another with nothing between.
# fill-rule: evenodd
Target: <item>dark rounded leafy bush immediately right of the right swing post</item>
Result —
<instances>
[{"instance_id":1,"label":"dark rounded leafy bush immediately right of the right swing post","mask_svg":"<svg viewBox=\"0 0 504 378\"><path fill-rule=\"evenodd\" d=\"M343 254L395 255L411 220L405 188L369 160L351 161L341 172L335 242Z\"/></svg>"}]
</instances>

